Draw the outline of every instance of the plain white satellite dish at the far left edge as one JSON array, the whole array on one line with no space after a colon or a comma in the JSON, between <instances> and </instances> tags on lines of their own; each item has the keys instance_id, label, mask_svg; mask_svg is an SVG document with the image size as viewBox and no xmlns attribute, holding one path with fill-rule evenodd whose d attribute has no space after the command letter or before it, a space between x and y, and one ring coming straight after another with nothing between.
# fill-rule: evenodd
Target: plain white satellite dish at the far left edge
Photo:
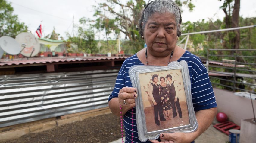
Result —
<instances>
[{"instance_id":1,"label":"plain white satellite dish at the far left edge","mask_svg":"<svg viewBox=\"0 0 256 143\"><path fill-rule=\"evenodd\" d=\"M12 37L2 36L0 38L0 58L6 52L10 55L17 55L20 53L20 44Z\"/></svg>"}]
</instances>

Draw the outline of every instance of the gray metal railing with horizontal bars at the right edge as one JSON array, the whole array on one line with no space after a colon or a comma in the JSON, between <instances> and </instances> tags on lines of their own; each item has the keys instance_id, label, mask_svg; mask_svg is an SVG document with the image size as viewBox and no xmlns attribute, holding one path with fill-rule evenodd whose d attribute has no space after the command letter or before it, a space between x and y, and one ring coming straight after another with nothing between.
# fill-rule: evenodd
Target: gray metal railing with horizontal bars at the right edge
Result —
<instances>
[{"instance_id":1,"label":"gray metal railing with horizontal bars at the right edge","mask_svg":"<svg viewBox=\"0 0 256 143\"><path fill-rule=\"evenodd\" d=\"M245 56L246 53L251 55ZM247 91L255 94L254 55L256 49L208 49L206 67L209 74L214 73L214 76L210 76L213 86L221 86L233 92ZM211 60L213 58L218 60Z\"/></svg>"}]
</instances>

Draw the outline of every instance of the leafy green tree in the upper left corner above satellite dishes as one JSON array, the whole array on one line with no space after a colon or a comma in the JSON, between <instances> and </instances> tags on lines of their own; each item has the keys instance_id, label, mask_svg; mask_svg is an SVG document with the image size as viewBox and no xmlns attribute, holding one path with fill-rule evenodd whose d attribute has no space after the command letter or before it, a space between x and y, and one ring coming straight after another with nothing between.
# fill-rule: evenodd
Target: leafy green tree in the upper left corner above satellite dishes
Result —
<instances>
[{"instance_id":1,"label":"leafy green tree in the upper left corner above satellite dishes","mask_svg":"<svg viewBox=\"0 0 256 143\"><path fill-rule=\"evenodd\" d=\"M18 16L13 14L13 7L5 0L0 0L0 37L15 37L20 32L26 32L27 26L19 22Z\"/></svg>"}]
</instances>

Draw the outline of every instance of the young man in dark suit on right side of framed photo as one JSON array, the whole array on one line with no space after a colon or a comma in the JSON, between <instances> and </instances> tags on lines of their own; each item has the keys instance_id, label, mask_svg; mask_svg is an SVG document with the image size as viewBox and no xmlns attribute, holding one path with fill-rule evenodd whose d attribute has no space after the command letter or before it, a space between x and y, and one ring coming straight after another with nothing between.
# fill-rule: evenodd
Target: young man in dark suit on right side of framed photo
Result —
<instances>
[{"instance_id":1,"label":"young man in dark suit on right side of framed photo","mask_svg":"<svg viewBox=\"0 0 256 143\"><path fill-rule=\"evenodd\" d=\"M179 102L179 97L178 95L176 95L176 91L175 91L175 87L172 83L173 77L168 74L166 76L167 80L169 81L169 95L170 95L170 101L171 101L171 106L173 109L173 118L177 116L177 112L176 112L176 107L179 113L179 117L182 118L182 112L181 112L181 108L180 108L180 102ZM175 106L176 105L176 106Z\"/></svg>"}]
</instances>

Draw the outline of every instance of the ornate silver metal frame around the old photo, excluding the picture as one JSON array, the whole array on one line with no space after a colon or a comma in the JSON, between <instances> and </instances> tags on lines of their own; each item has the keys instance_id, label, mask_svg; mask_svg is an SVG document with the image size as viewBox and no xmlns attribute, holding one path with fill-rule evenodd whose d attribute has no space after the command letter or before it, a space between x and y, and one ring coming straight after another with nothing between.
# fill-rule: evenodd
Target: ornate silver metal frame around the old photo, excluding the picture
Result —
<instances>
[{"instance_id":1,"label":"ornate silver metal frame around the old photo, excluding the picture","mask_svg":"<svg viewBox=\"0 0 256 143\"><path fill-rule=\"evenodd\" d=\"M183 78L186 102L187 102L188 113L189 113L189 124L182 125L179 127L172 127L172 128L166 128L163 130L155 130L155 131L149 132L146 127L139 74L149 73L149 72L161 72L161 71L175 70L175 69L180 69L182 71L182 78ZM140 141L145 142L148 139L149 140L157 139L160 136L160 133L174 133L174 132L189 133L197 130L198 124L197 124L195 111L192 103L191 83L190 83L189 69L186 61L182 60L180 62L171 62L168 64L167 67L135 65L130 67L129 75L130 75L130 79L133 87L138 90L137 92L138 98L135 99L135 103L136 103L136 123L137 123L137 129L138 129Z\"/></svg>"}]
</instances>

